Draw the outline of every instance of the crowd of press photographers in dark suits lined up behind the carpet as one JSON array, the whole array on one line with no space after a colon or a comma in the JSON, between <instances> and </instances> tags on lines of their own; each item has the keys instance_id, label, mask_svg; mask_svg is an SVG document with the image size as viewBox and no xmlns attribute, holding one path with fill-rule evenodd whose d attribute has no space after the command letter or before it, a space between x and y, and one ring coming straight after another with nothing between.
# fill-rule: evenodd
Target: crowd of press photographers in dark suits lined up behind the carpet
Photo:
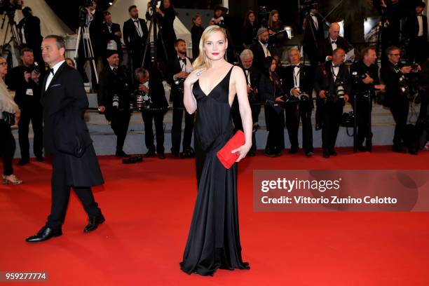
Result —
<instances>
[{"instance_id":1,"label":"crowd of press photographers in dark suits lined up behind the carpet","mask_svg":"<svg viewBox=\"0 0 429 286\"><path fill-rule=\"evenodd\" d=\"M411 10L402 9L403 2L374 1L380 11L381 28L378 40L365 45L353 45L340 36L341 25L327 22L320 13L320 1L304 1L301 7L299 45L290 44L290 35L276 10L247 11L243 14L241 37L237 39L230 32L228 9L214 8L209 25L225 29L229 42L226 60L245 72L253 121L253 144L248 155L256 156L257 149L261 149L256 134L261 128L262 110L268 131L266 156L280 156L284 152L285 128L290 154L301 148L305 156L313 156L313 132L321 130L322 156L336 156L336 138L341 126L353 129L355 151L372 151L374 104L382 104L391 111L395 121L394 152L417 155L419 151L427 151L428 19L422 15L423 1L416 1ZM11 126L18 124L21 154L18 166L30 162L30 122L36 161L44 160L44 111L40 101L45 91L43 81L46 83L51 73L55 77L56 72L55 67L45 63L47 52L44 49L41 52L43 36L48 35L41 34L39 18L32 15L29 7L23 7L22 13L24 18L17 25L20 65L10 67L10 61L0 57L0 142L6 184L22 183L13 174L15 138ZM157 1L150 1L144 18L139 17L137 6L128 7L128 13L130 18L121 27L112 22L114 15L109 11L97 8L97 1L88 1L79 10L81 29L76 32L81 38L77 59L64 60L79 71L83 81L93 82L98 111L104 114L116 135L116 156L123 163L142 161L142 156L130 156L123 150L133 112L142 114L147 147L144 156L166 158L164 117L170 109L172 147L167 153L173 158L192 158L195 114L184 110L184 80L193 71L193 60L203 48L200 44L205 29L203 16L196 14L192 18L190 58L186 41L175 35L173 22L177 13L170 0L161 1L159 6ZM354 56L350 53L353 48ZM163 81L170 86L169 98ZM14 97L9 90L15 91ZM347 103L353 111L343 113ZM419 112L416 121L410 122L409 111L414 106L419 106ZM231 116L236 130L243 130L237 99L232 104Z\"/></svg>"}]
</instances>

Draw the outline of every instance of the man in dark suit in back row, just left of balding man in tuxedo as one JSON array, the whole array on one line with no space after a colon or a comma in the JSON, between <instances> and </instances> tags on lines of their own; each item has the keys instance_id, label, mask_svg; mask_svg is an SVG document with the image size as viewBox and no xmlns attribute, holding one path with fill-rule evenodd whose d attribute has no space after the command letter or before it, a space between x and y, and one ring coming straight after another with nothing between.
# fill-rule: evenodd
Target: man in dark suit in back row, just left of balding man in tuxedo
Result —
<instances>
[{"instance_id":1,"label":"man in dark suit in back row, just left of balding man in tuxedo","mask_svg":"<svg viewBox=\"0 0 429 286\"><path fill-rule=\"evenodd\" d=\"M318 65L318 43L325 38L325 23L318 9L311 9L303 22L304 52L312 66Z\"/></svg>"}]
</instances>

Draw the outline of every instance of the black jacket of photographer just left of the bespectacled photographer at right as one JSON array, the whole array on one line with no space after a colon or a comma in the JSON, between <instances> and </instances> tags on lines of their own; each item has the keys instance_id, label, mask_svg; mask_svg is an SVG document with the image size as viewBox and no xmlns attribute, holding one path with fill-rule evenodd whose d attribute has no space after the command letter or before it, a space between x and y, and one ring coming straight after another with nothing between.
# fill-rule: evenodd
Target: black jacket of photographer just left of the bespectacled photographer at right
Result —
<instances>
[{"instance_id":1,"label":"black jacket of photographer just left of the bespectacled photographer at right","mask_svg":"<svg viewBox=\"0 0 429 286\"><path fill-rule=\"evenodd\" d=\"M354 75L354 73L356 74ZM363 83L362 76L365 76L365 74L374 79L374 82L369 84ZM376 64L371 64L368 67L362 60L355 62L350 67L350 80L353 86L353 92L351 94L352 97L355 96L355 94L362 94L366 93L367 91L374 95L374 86L380 84L379 67Z\"/></svg>"}]
</instances>

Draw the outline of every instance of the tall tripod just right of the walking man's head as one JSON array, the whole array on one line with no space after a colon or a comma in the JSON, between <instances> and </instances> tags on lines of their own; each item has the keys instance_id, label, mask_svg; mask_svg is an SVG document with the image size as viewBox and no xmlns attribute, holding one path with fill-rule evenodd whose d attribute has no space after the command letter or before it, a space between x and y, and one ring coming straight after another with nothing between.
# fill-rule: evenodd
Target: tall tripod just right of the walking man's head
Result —
<instances>
[{"instance_id":1,"label":"tall tripod just right of the walking man's head","mask_svg":"<svg viewBox=\"0 0 429 286\"><path fill-rule=\"evenodd\" d=\"M90 85L91 85L91 89L93 90L94 85L92 82L93 79L93 73L92 71L94 71L94 76L95 76L95 83L98 84L98 74L97 74L97 66L95 65L95 59L94 59L94 50L93 50L93 44L91 43L91 39L90 39L90 32L89 32L89 27L88 27L88 20L87 21L82 21L81 20L81 25L79 25L79 29L78 29L78 36L77 36L77 41L76 41L76 49L74 51L74 59L78 60L79 58L79 44L83 43L83 57L85 59L85 63L83 64L83 67L86 66L86 64L89 64L89 68L88 68L88 80L90 81ZM91 67L93 69L91 69Z\"/></svg>"}]
</instances>

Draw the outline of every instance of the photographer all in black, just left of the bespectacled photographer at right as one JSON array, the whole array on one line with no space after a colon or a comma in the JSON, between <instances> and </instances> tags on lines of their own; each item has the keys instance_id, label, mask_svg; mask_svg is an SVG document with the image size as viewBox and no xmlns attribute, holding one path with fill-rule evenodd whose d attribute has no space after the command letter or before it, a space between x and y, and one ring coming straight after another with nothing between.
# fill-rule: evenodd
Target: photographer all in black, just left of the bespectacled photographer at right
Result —
<instances>
[{"instance_id":1,"label":"photographer all in black, just left of the bespectacled photographer at right","mask_svg":"<svg viewBox=\"0 0 429 286\"><path fill-rule=\"evenodd\" d=\"M371 130L369 116L372 111L375 90L384 90L385 86L380 84L375 48L365 48L362 50L362 56L362 60L355 62L350 67L353 83L350 103L355 111L357 121L357 149L365 152L372 147L372 134L369 134ZM366 147L363 146L365 138L367 138Z\"/></svg>"}]
</instances>

